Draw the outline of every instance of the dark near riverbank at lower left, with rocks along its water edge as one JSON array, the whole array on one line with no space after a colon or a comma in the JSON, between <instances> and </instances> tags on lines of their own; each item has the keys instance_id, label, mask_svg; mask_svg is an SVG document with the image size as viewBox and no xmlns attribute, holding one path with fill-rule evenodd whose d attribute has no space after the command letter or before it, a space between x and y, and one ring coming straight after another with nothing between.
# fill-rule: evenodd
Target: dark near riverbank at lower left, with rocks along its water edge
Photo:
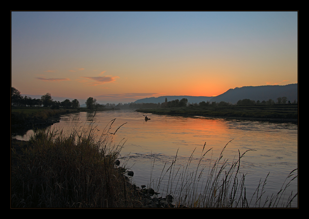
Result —
<instances>
[{"instance_id":1,"label":"dark near riverbank at lower left, with rocks along its water edge","mask_svg":"<svg viewBox=\"0 0 309 219\"><path fill-rule=\"evenodd\" d=\"M45 137L47 137L47 135L45 135ZM36 138L40 138L36 139L36 141L44 140L44 137L42 136L39 137L38 135L36 135ZM93 163L93 160L91 158L98 152L97 150L93 150L96 147L92 147L90 153L89 148L87 149L87 154L84 154L86 156L83 158L83 160L85 160L84 162L78 161L78 163L76 163L76 159L68 160L67 158L64 158L65 165L73 167L73 169L62 166L62 160L59 159L63 159L62 152L68 152L67 149L64 149L62 147L65 145L66 144L60 146L58 145L57 148L54 148L57 150L58 154L57 157L54 157L53 153L55 151L53 151L53 149L50 147L36 144L33 141L23 141L11 138L11 208L175 207L172 204L173 196L168 195L165 198L153 197L156 192L152 188L145 188L146 186L142 186L142 188L139 188L135 184L131 184L130 178L132 178L134 172L127 171L125 167L119 166L120 162L115 156L113 156L113 154L104 155L103 153L103 156L101 156L104 161L104 168L101 168L99 163ZM38 146L40 146L39 151L37 151ZM47 152L45 151L46 149L48 150L49 155L45 154L45 152ZM78 147L77 150L83 152L84 149ZM37 152L39 152L40 154L37 154ZM42 153L45 155L42 156ZM74 156L74 153L71 153L69 156ZM36 159L32 160L32 157L36 157ZM27 163L27 160L30 161L30 163ZM45 164L48 163L49 165L44 167ZM101 165L103 163L101 163ZM76 165L79 167L77 168ZM87 168L88 165L92 166L90 170ZM86 166L86 168L84 166ZM57 171L59 167L61 167L60 172ZM72 175L72 171L74 172L74 167L78 169L79 174L73 173ZM42 171L40 171L39 169L41 169ZM52 178L55 179L44 180L44 176L49 174L52 174ZM78 192L81 185L75 185L75 187L79 186L78 188L74 188L74 191L76 191L77 194L74 194L75 192L70 192L70 190L72 190L71 183L74 184L75 182L84 182L85 174L88 176L88 183L86 183L86 187L89 189L89 191L87 191L86 193L85 191L82 193ZM41 177L43 177L43 179L41 179ZM25 178L27 180L24 180ZM116 178L116 181L114 178ZM110 182L105 184L105 181L108 179L110 180ZM89 180L92 181L91 185L89 185ZM68 182L65 183L63 181ZM53 183L55 183L56 185ZM28 185L28 187L26 185ZM30 189L29 185L31 186ZM46 186L49 188L47 188ZM58 186L61 187L60 190L58 189ZM104 191L103 189L103 193L106 192L103 195L107 200L105 200L105 202L103 203L97 203L97 195L100 194L100 191L102 192L102 186L105 187L106 190L108 190ZM93 191L93 187L98 187L99 190ZM40 190L40 194L42 195L38 196L38 194L33 194L33 192L38 192L38 190ZM46 192L46 190L49 190L49 192ZM118 195L117 192L115 194L115 191L118 191ZM93 192L94 194L89 194L89 192ZM82 196L78 195L78 193L81 193ZM122 193L121 197L119 196L119 193ZM83 197L85 194L88 195L88 200L87 197ZM90 199L90 196L93 198ZM117 197L115 198L115 196ZM75 199L76 202L74 202L74 200L68 200L69 197ZM57 200L55 200L55 198ZM66 199L66 201L63 201L64 199ZM54 202L52 203L51 200L54 200Z\"/></svg>"}]
</instances>

